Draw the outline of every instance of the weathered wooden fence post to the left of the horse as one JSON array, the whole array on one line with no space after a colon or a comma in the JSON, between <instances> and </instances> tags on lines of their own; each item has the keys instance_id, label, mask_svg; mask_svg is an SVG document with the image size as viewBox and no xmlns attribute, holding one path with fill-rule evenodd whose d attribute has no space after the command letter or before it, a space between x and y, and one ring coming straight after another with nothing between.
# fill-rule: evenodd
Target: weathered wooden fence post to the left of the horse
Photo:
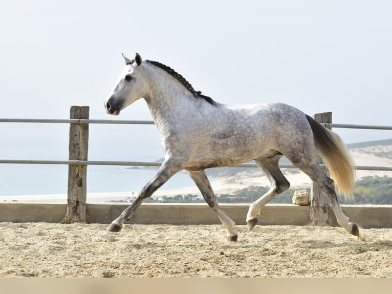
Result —
<instances>
[{"instance_id":1,"label":"weathered wooden fence post to the left of the horse","mask_svg":"<svg viewBox=\"0 0 392 294\"><path fill-rule=\"evenodd\" d=\"M89 119L88 106L71 106L71 119ZM89 124L71 123L69 160L87 160L89 151ZM62 223L86 221L87 165L68 165L67 214Z\"/></svg>"}]
</instances>

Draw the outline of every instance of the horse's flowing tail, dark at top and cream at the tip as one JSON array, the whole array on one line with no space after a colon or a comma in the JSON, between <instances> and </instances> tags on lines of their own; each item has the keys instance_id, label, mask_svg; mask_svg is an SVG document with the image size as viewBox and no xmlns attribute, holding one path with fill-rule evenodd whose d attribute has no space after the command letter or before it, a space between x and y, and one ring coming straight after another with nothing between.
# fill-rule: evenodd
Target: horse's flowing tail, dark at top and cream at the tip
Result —
<instances>
[{"instance_id":1,"label":"horse's flowing tail, dark at top and cream at the tip","mask_svg":"<svg viewBox=\"0 0 392 294\"><path fill-rule=\"evenodd\" d=\"M355 164L342 139L307 115L312 128L314 144L320 152L339 194L354 197Z\"/></svg>"}]
</instances>

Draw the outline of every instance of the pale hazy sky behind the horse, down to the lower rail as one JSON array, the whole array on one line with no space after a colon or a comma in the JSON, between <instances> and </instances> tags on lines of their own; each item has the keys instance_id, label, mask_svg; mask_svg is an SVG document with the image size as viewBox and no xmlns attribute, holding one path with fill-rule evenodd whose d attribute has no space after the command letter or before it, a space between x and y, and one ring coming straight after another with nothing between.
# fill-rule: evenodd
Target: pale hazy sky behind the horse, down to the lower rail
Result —
<instances>
[{"instance_id":1,"label":"pale hazy sky behind the horse, down to the lower rail","mask_svg":"<svg viewBox=\"0 0 392 294\"><path fill-rule=\"evenodd\" d=\"M103 107L125 66L121 53L138 52L221 103L279 101L310 115L331 111L335 123L392 125L391 12L392 2L377 0L4 1L0 117L69 118L76 105L90 106L91 119L151 120L143 99L118 117ZM68 128L0 123L0 157L16 159L17 143L18 159L63 159ZM346 143L392 138L335 131ZM90 140L92 160L160 152L154 126L91 125Z\"/></svg>"}]
</instances>

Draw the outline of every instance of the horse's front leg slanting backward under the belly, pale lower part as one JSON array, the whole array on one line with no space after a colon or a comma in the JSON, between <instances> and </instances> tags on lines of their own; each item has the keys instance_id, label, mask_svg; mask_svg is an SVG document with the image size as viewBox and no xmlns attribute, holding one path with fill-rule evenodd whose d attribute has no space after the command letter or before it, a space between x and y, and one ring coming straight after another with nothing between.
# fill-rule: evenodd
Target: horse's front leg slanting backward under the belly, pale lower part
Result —
<instances>
[{"instance_id":1,"label":"horse's front leg slanting backward under the belly, pale lower part","mask_svg":"<svg viewBox=\"0 0 392 294\"><path fill-rule=\"evenodd\" d=\"M237 233L233 230L234 222L227 216L223 209L219 206L215 194L212 191L211 184L204 171L188 171L189 176L194 183L198 186L203 198L207 204L216 212L217 216L221 219L222 224L225 226L228 241L237 241Z\"/></svg>"}]
</instances>

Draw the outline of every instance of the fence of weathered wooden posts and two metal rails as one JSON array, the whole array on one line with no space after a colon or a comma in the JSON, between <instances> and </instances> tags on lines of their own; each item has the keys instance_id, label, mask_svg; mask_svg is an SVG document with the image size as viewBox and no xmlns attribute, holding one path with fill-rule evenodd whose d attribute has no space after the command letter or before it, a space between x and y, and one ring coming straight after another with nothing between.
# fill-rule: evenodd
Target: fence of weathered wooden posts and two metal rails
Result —
<instances>
[{"instance_id":1,"label":"fence of weathered wooden posts and two metal rails","mask_svg":"<svg viewBox=\"0 0 392 294\"><path fill-rule=\"evenodd\" d=\"M379 125L354 125L332 123L332 113L315 114L314 118L326 128L392 130L392 127ZM100 120L89 119L89 107L72 106L70 119L0 119L0 122L12 123L70 123L69 160L2 160L0 163L12 164L67 164L68 201L64 222L86 220L86 173L87 165L127 165L127 166L160 166L157 162L137 161L91 161L88 160L89 124L154 124L146 120ZM322 162L320 165L323 166ZM256 164L243 163L232 167L257 167ZM281 168L296 168L292 164L279 164ZM356 166L356 170L392 171L388 166ZM329 200L312 184L310 220L313 223L325 223L329 218Z\"/></svg>"}]
</instances>

